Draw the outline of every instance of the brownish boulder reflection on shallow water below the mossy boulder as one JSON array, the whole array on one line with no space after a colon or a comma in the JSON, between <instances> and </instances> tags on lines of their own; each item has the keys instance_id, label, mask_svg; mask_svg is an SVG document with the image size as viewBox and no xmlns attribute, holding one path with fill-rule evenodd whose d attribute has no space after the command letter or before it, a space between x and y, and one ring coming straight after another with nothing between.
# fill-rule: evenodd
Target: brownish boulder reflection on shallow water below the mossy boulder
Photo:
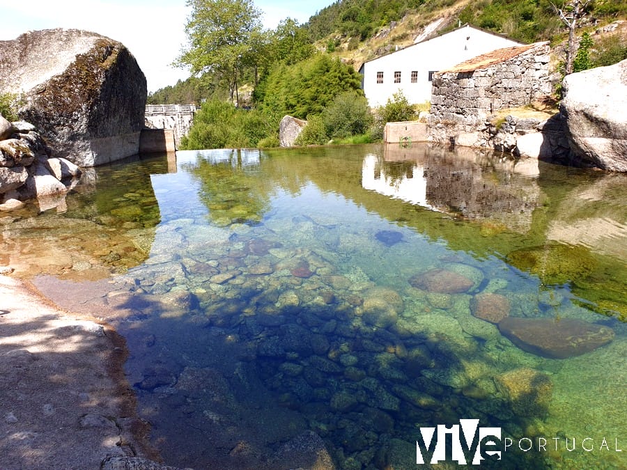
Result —
<instances>
[{"instance_id":1,"label":"brownish boulder reflection on shallow water below the mossy boulder","mask_svg":"<svg viewBox=\"0 0 627 470\"><path fill-rule=\"evenodd\" d=\"M31 278L106 279L143 263L160 213L150 175L168 171L167 157L89 169L59 207L0 221L8 264ZM42 208L40 207L40 210Z\"/></svg>"}]
</instances>

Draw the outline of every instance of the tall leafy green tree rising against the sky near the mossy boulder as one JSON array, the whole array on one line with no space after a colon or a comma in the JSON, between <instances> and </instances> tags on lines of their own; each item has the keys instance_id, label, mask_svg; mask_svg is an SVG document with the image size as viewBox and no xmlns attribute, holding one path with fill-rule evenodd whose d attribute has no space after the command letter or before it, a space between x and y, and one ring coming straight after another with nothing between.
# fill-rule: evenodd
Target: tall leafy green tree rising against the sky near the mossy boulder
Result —
<instances>
[{"instance_id":1,"label":"tall leafy green tree rising against the sky near the mossy boulder","mask_svg":"<svg viewBox=\"0 0 627 470\"><path fill-rule=\"evenodd\" d=\"M187 48L176 65L192 75L222 75L239 106L238 74L249 63L254 33L261 30L261 11L251 0L187 0L192 13L185 24Z\"/></svg>"}]
</instances>

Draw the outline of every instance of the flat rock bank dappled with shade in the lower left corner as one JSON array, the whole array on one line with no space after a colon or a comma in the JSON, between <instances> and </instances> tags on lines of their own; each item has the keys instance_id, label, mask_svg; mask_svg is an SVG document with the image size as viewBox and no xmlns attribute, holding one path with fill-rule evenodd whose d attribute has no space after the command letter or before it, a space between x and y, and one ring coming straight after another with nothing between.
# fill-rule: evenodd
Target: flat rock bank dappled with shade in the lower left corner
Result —
<instances>
[{"instance_id":1,"label":"flat rock bank dappled with shade in the lower left corner","mask_svg":"<svg viewBox=\"0 0 627 470\"><path fill-rule=\"evenodd\" d=\"M123 338L0 276L0 469L167 469L146 444Z\"/></svg>"}]
</instances>

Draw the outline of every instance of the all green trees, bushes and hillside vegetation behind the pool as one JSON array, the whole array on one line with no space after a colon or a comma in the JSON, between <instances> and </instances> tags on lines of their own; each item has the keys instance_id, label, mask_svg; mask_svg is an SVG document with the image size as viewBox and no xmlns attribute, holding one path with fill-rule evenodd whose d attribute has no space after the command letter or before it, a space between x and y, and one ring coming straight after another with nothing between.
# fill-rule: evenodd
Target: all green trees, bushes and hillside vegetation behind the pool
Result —
<instances>
[{"instance_id":1,"label":"all green trees, bushes and hillside vegetation behind the pool","mask_svg":"<svg viewBox=\"0 0 627 470\"><path fill-rule=\"evenodd\" d=\"M591 36L599 24L625 17L627 0L342 0L307 24L286 18L274 31L261 29L261 12L252 0L188 3L189 45L177 63L189 66L194 77L148 97L151 104L206 101L183 140L185 148L277 146L279 122L286 114L309 122L301 145L380 141L386 122L416 119L424 107L399 93L385 106L369 109L356 64L364 49L367 55L369 47L373 51L410 40L420 26L444 16L449 17L448 29L469 23L525 42L557 44L569 32L559 13L575 8L576 31L582 36L578 52L566 48L564 70L568 64L580 71L627 58L620 31L594 40ZM378 36L375 45L372 36L391 22L404 26Z\"/></svg>"}]
</instances>

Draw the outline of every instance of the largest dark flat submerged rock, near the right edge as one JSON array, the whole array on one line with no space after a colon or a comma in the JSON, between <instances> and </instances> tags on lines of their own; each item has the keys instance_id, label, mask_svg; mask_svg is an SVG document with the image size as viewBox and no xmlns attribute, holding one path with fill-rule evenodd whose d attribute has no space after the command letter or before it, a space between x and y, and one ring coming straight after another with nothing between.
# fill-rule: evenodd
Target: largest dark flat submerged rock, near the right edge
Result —
<instances>
[{"instance_id":1,"label":"largest dark flat submerged rock, near the right edge","mask_svg":"<svg viewBox=\"0 0 627 470\"><path fill-rule=\"evenodd\" d=\"M499 330L521 350L550 359L580 356L614 339L608 327L570 318L508 317Z\"/></svg>"}]
</instances>

